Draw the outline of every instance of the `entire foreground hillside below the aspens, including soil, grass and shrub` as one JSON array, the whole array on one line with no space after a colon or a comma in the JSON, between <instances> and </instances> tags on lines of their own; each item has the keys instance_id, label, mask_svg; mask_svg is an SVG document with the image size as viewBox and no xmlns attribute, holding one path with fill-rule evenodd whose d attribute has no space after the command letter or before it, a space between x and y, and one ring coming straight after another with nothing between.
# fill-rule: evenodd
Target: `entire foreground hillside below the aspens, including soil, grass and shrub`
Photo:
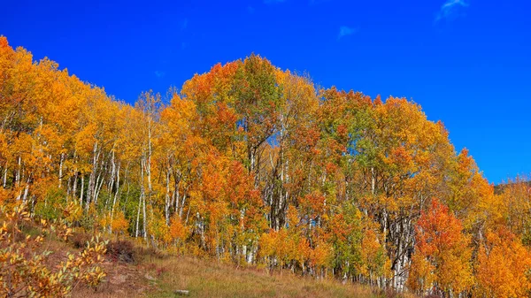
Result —
<instances>
[{"instance_id":1,"label":"entire foreground hillside below the aspens, including soil, grass and shrub","mask_svg":"<svg viewBox=\"0 0 531 298\"><path fill-rule=\"evenodd\" d=\"M179 295L176 290L187 291L189 297L396 296L351 282L343 284L329 276L316 279L289 270L241 267L217 258L146 248L142 241L130 238L108 238L101 234L95 237L90 232L34 222L23 210L13 211L9 218L18 219L4 220L0 228L3 245L0 258L15 258L0 263L3 273L0 278L7 282L3 287L9 287L2 293L12 294L7 296L23 297L35 292L42 297L175 297ZM102 245L99 253L91 250L95 243ZM23 260L30 255L37 257L30 257L29 263L25 263ZM78 264L80 258L84 261ZM73 263L77 265L68 265ZM91 270L93 265L97 271ZM91 272L102 271L101 279L85 279ZM74 275L81 275L81 279Z\"/></svg>"}]
</instances>

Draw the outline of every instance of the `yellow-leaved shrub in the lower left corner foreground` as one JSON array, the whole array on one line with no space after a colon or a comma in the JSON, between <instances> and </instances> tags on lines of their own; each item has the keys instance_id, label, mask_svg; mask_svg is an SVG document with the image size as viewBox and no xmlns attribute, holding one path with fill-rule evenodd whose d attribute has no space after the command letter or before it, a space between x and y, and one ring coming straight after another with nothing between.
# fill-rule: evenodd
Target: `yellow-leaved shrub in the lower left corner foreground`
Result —
<instances>
[{"instance_id":1,"label":"yellow-leaved shrub in the lower left corner foreground","mask_svg":"<svg viewBox=\"0 0 531 298\"><path fill-rule=\"evenodd\" d=\"M57 267L48 265L52 251L42 249L45 233L66 239L72 233L67 225L50 225L41 220L42 234L21 231L32 218L24 204L0 210L0 295L5 297L64 297L74 287L96 287L105 277L98 264L104 261L105 244L98 237L87 243L79 254L67 254Z\"/></svg>"}]
</instances>

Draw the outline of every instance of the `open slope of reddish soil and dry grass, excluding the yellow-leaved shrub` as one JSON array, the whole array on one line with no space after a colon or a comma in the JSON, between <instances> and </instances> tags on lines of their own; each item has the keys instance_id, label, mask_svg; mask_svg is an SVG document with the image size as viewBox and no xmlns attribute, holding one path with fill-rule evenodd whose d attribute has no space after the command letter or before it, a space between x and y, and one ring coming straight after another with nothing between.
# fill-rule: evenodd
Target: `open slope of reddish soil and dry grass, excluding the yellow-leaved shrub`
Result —
<instances>
[{"instance_id":1,"label":"open slope of reddish soil and dry grass, excluding the yellow-leaved shrub","mask_svg":"<svg viewBox=\"0 0 531 298\"><path fill-rule=\"evenodd\" d=\"M74 249L58 241L53 243L53 247L56 251ZM176 297L175 290L188 290L188 297L369 298L390 295L374 292L365 286L342 284L334 279L302 278L290 271L238 268L216 260L134 249L133 263L117 261L109 256L104 263L107 277L102 285L96 291L88 287L76 288L73 297Z\"/></svg>"}]
</instances>

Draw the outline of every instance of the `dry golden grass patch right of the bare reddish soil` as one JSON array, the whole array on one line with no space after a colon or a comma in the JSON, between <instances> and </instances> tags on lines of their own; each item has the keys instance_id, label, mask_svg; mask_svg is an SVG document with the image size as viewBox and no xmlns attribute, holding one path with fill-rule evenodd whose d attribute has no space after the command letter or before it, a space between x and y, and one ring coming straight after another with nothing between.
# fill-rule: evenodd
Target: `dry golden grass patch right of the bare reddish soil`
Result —
<instances>
[{"instance_id":1,"label":"dry golden grass patch right of the bare reddish soil","mask_svg":"<svg viewBox=\"0 0 531 298\"><path fill-rule=\"evenodd\" d=\"M174 290L189 290L189 297L378 297L368 287L301 278L289 271L236 269L191 257L155 260L150 267L159 290L149 297L175 297Z\"/></svg>"}]
</instances>

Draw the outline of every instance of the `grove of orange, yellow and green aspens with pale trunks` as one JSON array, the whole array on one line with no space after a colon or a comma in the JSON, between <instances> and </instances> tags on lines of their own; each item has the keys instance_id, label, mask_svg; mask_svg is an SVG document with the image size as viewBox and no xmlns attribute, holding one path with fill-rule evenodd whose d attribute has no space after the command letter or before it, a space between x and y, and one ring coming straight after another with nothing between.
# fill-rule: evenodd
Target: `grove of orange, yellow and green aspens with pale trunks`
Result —
<instances>
[{"instance_id":1,"label":"grove of orange, yellow and green aspens with pale trunks","mask_svg":"<svg viewBox=\"0 0 531 298\"><path fill-rule=\"evenodd\" d=\"M263 57L135 105L0 37L0 202L240 266L445 297L527 297L531 188L495 192L404 98Z\"/></svg>"}]
</instances>

